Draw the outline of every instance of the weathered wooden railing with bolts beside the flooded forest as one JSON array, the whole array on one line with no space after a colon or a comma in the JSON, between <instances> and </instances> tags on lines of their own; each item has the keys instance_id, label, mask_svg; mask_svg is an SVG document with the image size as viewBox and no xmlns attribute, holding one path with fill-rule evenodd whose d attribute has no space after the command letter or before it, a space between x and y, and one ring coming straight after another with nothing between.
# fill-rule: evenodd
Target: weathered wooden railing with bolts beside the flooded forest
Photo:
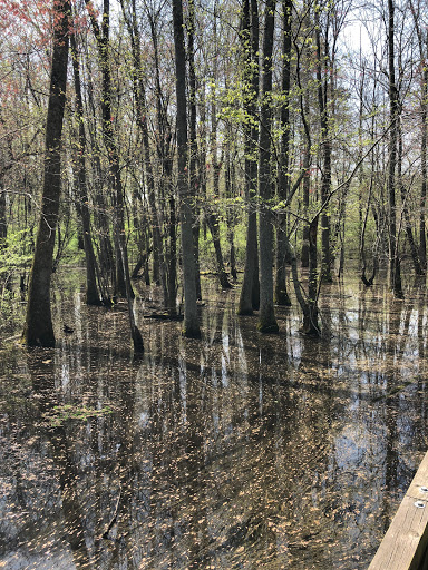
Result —
<instances>
[{"instance_id":1,"label":"weathered wooden railing with bolts beside the flooded forest","mask_svg":"<svg viewBox=\"0 0 428 570\"><path fill-rule=\"evenodd\" d=\"M428 452L369 570L428 570Z\"/></svg>"}]
</instances>

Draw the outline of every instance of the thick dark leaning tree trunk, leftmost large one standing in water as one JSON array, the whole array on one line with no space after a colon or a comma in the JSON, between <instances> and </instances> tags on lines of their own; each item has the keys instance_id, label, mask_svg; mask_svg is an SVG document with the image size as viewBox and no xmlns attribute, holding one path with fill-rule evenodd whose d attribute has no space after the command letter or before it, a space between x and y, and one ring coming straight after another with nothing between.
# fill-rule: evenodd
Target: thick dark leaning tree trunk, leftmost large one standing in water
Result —
<instances>
[{"instance_id":1,"label":"thick dark leaning tree trunk, leftmost large one standing in water","mask_svg":"<svg viewBox=\"0 0 428 570\"><path fill-rule=\"evenodd\" d=\"M46 120L43 194L23 330L23 341L28 346L45 347L55 346L50 309L50 281L61 191L61 134L66 105L71 11L69 0L56 0L52 6L54 47Z\"/></svg>"}]
</instances>

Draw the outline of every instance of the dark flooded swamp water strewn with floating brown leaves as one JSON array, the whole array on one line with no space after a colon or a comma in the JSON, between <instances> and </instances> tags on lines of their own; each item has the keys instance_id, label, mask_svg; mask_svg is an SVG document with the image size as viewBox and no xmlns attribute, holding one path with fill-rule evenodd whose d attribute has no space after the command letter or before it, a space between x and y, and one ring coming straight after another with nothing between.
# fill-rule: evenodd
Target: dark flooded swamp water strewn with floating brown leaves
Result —
<instances>
[{"instance_id":1,"label":"dark flooded swamp water strewn with floating brown leaves","mask_svg":"<svg viewBox=\"0 0 428 570\"><path fill-rule=\"evenodd\" d=\"M82 279L56 277L57 348L2 328L0 568L367 569L428 448L425 283L323 285L319 340L294 297L261 335L213 277L186 340L140 287L133 360Z\"/></svg>"}]
</instances>

